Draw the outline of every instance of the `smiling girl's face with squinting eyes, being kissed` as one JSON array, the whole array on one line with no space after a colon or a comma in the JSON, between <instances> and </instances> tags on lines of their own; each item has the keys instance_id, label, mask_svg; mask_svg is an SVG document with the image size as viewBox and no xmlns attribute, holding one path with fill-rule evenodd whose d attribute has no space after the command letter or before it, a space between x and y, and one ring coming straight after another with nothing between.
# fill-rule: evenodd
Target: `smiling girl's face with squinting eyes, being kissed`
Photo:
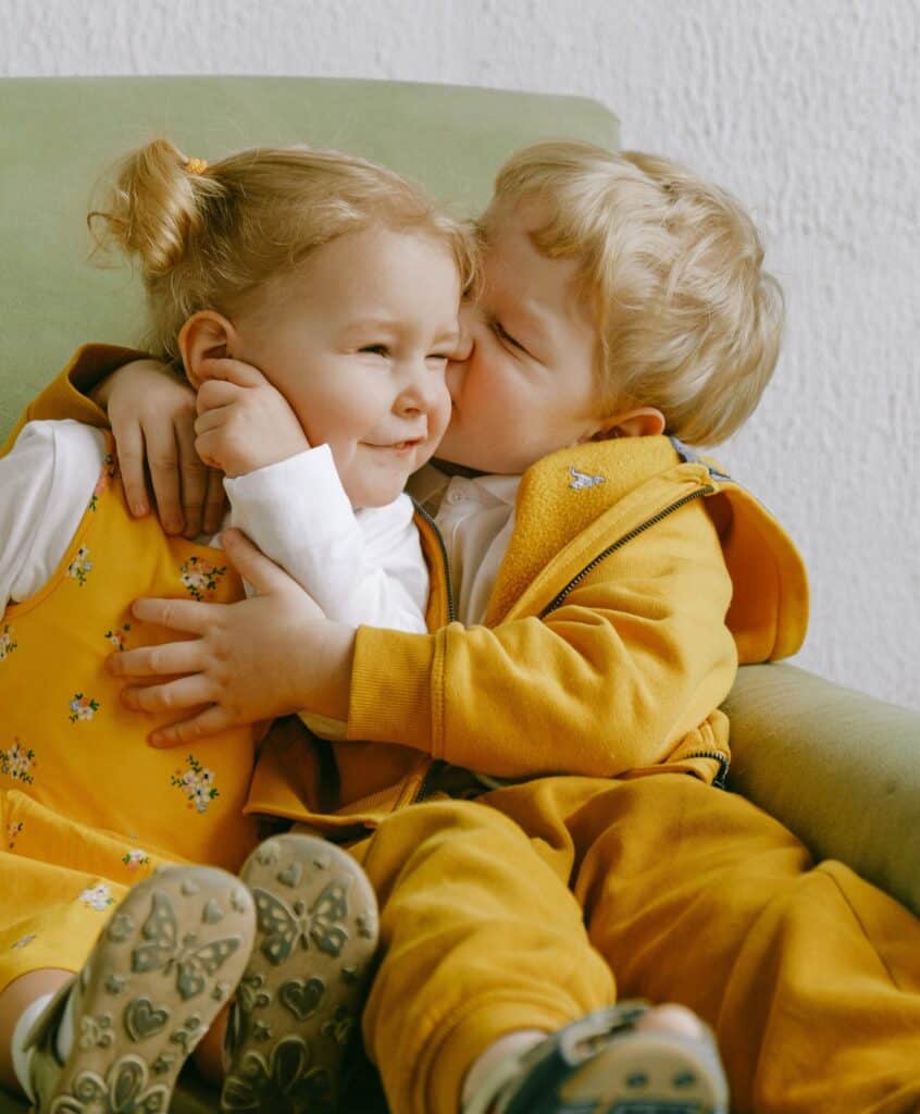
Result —
<instances>
[{"instance_id":1,"label":"smiling girl's face with squinting eyes, being kissed","mask_svg":"<svg viewBox=\"0 0 920 1114\"><path fill-rule=\"evenodd\" d=\"M329 444L354 507L380 507L438 446L458 339L448 248L370 227L313 252L234 319L227 355L258 368L312 446ZM238 345L238 346L237 346Z\"/></svg>"}]
</instances>

